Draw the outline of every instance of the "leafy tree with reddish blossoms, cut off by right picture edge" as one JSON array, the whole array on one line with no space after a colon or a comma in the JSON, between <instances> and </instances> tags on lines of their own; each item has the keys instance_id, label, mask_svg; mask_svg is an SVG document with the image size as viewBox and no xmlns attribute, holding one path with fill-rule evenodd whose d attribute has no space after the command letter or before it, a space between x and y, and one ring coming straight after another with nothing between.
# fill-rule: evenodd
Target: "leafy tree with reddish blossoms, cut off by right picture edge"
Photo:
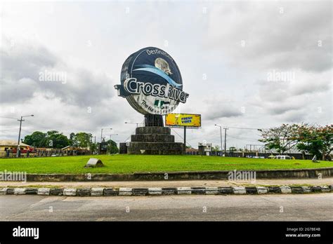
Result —
<instances>
[{"instance_id":1,"label":"leafy tree with reddish blossoms, cut off by right picture edge","mask_svg":"<svg viewBox=\"0 0 333 244\"><path fill-rule=\"evenodd\" d=\"M333 125L327 126L299 126L299 144L297 149L330 161L329 154L333 150Z\"/></svg>"}]
</instances>

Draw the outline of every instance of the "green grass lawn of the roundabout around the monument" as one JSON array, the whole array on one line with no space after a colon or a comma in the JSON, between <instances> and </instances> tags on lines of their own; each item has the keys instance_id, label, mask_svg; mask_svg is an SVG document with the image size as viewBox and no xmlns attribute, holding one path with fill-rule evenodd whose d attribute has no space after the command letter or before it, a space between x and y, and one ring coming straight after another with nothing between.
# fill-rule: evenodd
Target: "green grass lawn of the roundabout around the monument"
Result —
<instances>
[{"instance_id":1,"label":"green grass lawn of the roundabout around the monument","mask_svg":"<svg viewBox=\"0 0 333 244\"><path fill-rule=\"evenodd\" d=\"M89 158L100 158L103 168L84 168ZM265 170L291 168L333 167L333 162L310 160L277 160L261 158L228 158L218 156L157 156L157 155L99 155L48 158L3 158L0 172L27 173L132 173L186 170Z\"/></svg>"}]
</instances>

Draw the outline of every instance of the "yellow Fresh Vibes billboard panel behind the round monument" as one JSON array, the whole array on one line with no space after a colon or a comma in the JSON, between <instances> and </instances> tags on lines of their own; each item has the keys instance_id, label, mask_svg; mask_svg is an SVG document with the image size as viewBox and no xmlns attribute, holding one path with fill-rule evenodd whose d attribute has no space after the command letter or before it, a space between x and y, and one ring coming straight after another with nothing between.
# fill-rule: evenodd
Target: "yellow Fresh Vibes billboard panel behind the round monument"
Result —
<instances>
[{"instance_id":1,"label":"yellow Fresh Vibes billboard panel behind the round monument","mask_svg":"<svg viewBox=\"0 0 333 244\"><path fill-rule=\"evenodd\" d=\"M166 114L165 125L201 127L201 114Z\"/></svg>"}]
</instances>

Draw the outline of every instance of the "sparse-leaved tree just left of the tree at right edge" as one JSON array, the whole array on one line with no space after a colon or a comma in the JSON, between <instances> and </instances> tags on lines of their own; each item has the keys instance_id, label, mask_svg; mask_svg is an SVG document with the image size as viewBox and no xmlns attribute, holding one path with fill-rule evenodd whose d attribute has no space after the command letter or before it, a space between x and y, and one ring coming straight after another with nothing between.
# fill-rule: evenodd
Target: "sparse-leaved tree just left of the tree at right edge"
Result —
<instances>
[{"instance_id":1,"label":"sparse-leaved tree just left of the tree at right edge","mask_svg":"<svg viewBox=\"0 0 333 244\"><path fill-rule=\"evenodd\" d=\"M267 149L276 149L279 154L284 154L297 144L298 130L298 125L285 123L275 128L259 129L263 137L259 142L265 143Z\"/></svg>"}]
</instances>

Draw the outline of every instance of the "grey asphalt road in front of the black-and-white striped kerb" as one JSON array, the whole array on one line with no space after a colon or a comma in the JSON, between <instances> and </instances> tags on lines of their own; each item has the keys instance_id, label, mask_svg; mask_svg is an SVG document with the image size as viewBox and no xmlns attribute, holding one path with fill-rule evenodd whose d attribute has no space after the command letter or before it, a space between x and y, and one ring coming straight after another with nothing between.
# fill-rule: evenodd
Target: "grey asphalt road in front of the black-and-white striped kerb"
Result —
<instances>
[{"instance_id":1,"label":"grey asphalt road in front of the black-and-white striped kerb","mask_svg":"<svg viewBox=\"0 0 333 244\"><path fill-rule=\"evenodd\" d=\"M333 220L333 193L246 196L0 196L1 221Z\"/></svg>"}]
</instances>

